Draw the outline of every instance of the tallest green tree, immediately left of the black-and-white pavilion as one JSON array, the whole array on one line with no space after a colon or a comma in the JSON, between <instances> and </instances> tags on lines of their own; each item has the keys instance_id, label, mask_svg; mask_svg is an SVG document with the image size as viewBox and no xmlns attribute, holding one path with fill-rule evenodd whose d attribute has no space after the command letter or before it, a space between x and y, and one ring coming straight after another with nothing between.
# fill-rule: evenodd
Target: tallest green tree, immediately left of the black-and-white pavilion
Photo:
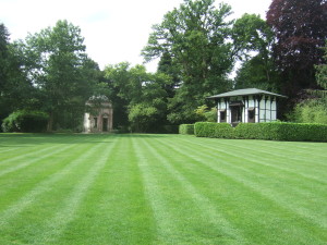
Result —
<instances>
[{"instance_id":1,"label":"tallest green tree, immediately left of the black-and-white pavilion","mask_svg":"<svg viewBox=\"0 0 327 245\"><path fill-rule=\"evenodd\" d=\"M168 12L161 24L153 26L143 49L146 61L168 57L180 71L181 84L169 101L172 123L191 122L194 110L205 98L230 87L228 73L233 64L229 41L232 22L227 22L231 8L214 7L214 0L184 0L179 9Z\"/></svg>"}]
</instances>

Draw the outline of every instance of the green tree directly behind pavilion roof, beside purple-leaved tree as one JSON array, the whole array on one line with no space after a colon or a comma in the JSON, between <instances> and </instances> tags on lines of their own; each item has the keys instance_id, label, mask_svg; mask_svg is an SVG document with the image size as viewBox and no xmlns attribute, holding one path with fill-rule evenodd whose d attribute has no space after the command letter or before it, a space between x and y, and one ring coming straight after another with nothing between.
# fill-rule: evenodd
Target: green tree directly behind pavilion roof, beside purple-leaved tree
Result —
<instances>
[{"instance_id":1,"label":"green tree directly behind pavilion roof, beside purple-leaved tree","mask_svg":"<svg viewBox=\"0 0 327 245\"><path fill-rule=\"evenodd\" d=\"M275 44L271 28L259 15L244 14L235 21L232 33L238 56L243 61L234 79L235 88L257 87L279 93L280 75L271 53Z\"/></svg>"}]
</instances>

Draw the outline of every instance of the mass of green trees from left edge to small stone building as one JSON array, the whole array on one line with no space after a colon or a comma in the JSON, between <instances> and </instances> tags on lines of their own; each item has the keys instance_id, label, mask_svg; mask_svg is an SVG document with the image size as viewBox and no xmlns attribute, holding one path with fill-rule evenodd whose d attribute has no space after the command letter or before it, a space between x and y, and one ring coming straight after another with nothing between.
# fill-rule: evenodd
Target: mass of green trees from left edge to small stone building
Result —
<instances>
[{"instance_id":1,"label":"mass of green trees from left edge to small stone building","mask_svg":"<svg viewBox=\"0 0 327 245\"><path fill-rule=\"evenodd\" d=\"M49 115L48 131L82 128L85 101L105 90L81 29L58 21L14 44L3 25L0 30L0 118L15 110L39 110Z\"/></svg>"}]
</instances>

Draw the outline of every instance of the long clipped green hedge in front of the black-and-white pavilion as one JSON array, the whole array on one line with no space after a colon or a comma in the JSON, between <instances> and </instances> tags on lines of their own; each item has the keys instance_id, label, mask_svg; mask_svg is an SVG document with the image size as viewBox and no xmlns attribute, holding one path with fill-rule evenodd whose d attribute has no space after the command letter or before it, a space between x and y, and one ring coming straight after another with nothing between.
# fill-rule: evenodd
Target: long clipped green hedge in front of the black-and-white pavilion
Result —
<instances>
[{"instance_id":1,"label":"long clipped green hedge in front of the black-and-white pavilion","mask_svg":"<svg viewBox=\"0 0 327 245\"><path fill-rule=\"evenodd\" d=\"M313 123L195 123L197 137L246 138L288 142L327 142L327 125Z\"/></svg>"}]
</instances>

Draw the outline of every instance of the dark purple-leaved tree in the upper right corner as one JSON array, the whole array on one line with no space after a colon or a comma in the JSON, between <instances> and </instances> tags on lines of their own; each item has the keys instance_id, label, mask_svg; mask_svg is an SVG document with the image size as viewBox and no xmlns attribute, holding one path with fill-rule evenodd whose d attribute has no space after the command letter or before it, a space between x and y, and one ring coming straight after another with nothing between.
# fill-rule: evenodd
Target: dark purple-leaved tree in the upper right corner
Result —
<instances>
[{"instance_id":1,"label":"dark purple-leaved tree in the upper right corner","mask_svg":"<svg viewBox=\"0 0 327 245\"><path fill-rule=\"evenodd\" d=\"M277 37L274 54L288 94L316 86L314 65L322 63L326 13L325 0L274 0L269 7L267 23Z\"/></svg>"}]
</instances>

